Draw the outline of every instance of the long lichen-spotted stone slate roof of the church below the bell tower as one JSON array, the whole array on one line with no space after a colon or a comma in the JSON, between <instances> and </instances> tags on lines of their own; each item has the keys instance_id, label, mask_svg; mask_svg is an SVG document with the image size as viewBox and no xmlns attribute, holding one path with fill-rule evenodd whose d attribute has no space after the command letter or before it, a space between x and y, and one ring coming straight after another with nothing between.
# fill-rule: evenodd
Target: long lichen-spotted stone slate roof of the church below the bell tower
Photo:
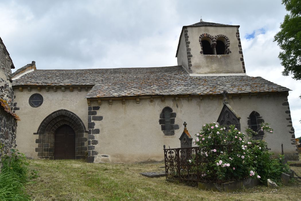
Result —
<instances>
[{"instance_id":1,"label":"long lichen-spotted stone slate roof of the church below the bell tower","mask_svg":"<svg viewBox=\"0 0 301 201\"><path fill-rule=\"evenodd\" d=\"M35 70L13 81L13 86L94 85L87 98L143 95L205 95L228 93L284 92L288 88L262 77L189 76L182 66Z\"/></svg>"}]
</instances>

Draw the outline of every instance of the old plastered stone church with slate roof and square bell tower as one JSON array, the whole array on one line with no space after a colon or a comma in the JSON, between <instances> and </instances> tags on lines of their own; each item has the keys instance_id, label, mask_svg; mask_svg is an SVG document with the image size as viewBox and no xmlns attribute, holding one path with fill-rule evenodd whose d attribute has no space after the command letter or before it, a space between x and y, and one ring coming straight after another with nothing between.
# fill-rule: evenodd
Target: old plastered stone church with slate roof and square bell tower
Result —
<instances>
[{"instance_id":1,"label":"old plastered stone church with slate roof and square bell tower","mask_svg":"<svg viewBox=\"0 0 301 201\"><path fill-rule=\"evenodd\" d=\"M216 122L223 91L241 130L259 133L276 154L296 155L288 88L246 74L239 26L200 22L182 28L178 64L154 68L39 70L11 75L17 148L30 158L88 162L162 161L163 145L180 147L187 122L194 137Z\"/></svg>"}]
</instances>

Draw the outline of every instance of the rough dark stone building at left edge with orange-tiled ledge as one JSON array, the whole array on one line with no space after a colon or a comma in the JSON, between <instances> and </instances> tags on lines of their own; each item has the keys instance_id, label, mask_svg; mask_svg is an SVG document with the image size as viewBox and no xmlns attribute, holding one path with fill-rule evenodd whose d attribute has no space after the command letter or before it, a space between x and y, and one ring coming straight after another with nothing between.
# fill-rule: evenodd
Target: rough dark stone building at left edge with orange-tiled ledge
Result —
<instances>
[{"instance_id":1,"label":"rough dark stone building at left edge with orange-tiled ledge","mask_svg":"<svg viewBox=\"0 0 301 201\"><path fill-rule=\"evenodd\" d=\"M9 154L15 147L16 127L19 117L13 113L14 92L11 86L11 61L8 51L0 38L0 156Z\"/></svg>"}]
</instances>

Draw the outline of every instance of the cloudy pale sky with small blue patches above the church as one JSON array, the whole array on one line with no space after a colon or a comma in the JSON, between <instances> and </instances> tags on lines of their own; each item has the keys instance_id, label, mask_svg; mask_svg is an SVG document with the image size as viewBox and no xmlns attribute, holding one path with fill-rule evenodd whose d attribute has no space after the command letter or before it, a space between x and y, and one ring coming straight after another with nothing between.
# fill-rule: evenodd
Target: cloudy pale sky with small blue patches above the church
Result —
<instances>
[{"instance_id":1,"label":"cloudy pale sky with small blue patches above the church","mask_svg":"<svg viewBox=\"0 0 301 201\"><path fill-rule=\"evenodd\" d=\"M247 75L286 86L296 137L301 136L301 82L281 75L273 42L286 14L281 0L26 0L0 2L0 36L20 68L157 67L177 65L184 25L240 25Z\"/></svg>"}]
</instances>

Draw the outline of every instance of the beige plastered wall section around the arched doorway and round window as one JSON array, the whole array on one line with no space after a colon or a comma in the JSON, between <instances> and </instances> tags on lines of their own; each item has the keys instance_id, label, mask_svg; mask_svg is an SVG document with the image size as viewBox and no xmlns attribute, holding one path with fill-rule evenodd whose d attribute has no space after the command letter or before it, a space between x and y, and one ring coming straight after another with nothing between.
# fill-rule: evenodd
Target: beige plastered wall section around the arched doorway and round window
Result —
<instances>
[{"instance_id":1,"label":"beige plastered wall section around the arched doorway and round window","mask_svg":"<svg viewBox=\"0 0 301 201\"><path fill-rule=\"evenodd\" d=\"M90 89L88 89L90 90ZM29 97L34 93L39 93L43 96L43 103L37 108L33 108L29 105ZM38 91L37 88L31 88L31 91L27 90L27 87L23 88L23 92L20 92L18 88L14 89L15 103L20 110L16 111L16 114L20 117L21 121L18 121L16 144L17 149L23 152L27 157L38 158L35 148L38 147L36 139L39 135L36 133L41 122L54 111L60 109L66 109L75 113L82 122L85 124L86 130L88 129L88 105L85 96L88 91L82 88L79 92L77 87L73 92L70 92L69 87L66 87L65 92L61 88L57 88L57 91L53 91L53 87L49 87L47 92L45 88ZM85 133L87 137L88 133ZM88 142L86 142L86 146Z\"/></svg>"}]
</instances>

